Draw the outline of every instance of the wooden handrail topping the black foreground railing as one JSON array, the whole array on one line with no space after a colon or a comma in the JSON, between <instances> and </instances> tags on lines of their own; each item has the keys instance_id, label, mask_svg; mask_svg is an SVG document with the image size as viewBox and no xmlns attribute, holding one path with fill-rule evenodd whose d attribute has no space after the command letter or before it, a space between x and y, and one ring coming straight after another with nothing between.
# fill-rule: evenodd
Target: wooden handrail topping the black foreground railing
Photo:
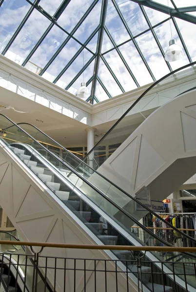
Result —
<instances>
[{"instance_id":1,"label":"wooden handrail topping the black foreground railing","mask_svg":"<svg viewBox=\"0 0 196 292\"><path fill-rule=\"evenodd\" d=\"M120 250L120 251L157 251L157 252L189 252L196 253L196 247L171 247L171 246L132 246L132 245L93 245L93 244L64 244L49 242L31 242L31 241L11 241L0 240L0 244L5 245L23 245L54 248L72 248L72 249L91 249L91 250Z\"/></svg>"}]
</instances>

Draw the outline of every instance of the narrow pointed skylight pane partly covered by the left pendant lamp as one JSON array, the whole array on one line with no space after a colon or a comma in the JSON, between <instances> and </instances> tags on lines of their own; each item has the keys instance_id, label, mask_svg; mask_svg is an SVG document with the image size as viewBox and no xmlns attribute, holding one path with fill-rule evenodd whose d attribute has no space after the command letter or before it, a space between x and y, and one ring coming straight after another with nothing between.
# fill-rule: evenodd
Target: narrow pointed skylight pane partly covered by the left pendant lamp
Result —
<instances>
[{"instance_id":1,"label":"narrow pointed skylight pane partly covered by the left pendant lamp","mask_svg":"<svg viewBox=\"0 0 196 292\"><path fill-rule=\"evenodd\" d=\"M73 93L73 94L76 94L76 92L78 91L78 89L81 86L81 83L82 82L87 82L93 76L94 66L95 66L95 60L93 60L91 62L91 64L86 68L86 70L84 70L84 72L78 77L78 79L68 89L68 91ZM88 86L87 86L87 88L88 88Z\"/></svg>"}]
</instances>

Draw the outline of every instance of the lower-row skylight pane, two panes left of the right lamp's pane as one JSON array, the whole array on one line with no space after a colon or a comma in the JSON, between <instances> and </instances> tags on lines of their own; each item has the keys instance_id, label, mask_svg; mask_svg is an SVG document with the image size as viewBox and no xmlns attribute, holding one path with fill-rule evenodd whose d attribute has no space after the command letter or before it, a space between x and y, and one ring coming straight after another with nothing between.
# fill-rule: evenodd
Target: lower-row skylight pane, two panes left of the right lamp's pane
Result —
<instances>
[{"instance_id":1,"label":"lower-row skylight pane, two panes left of the right lamp's pane","mask_svg":"<svg viewBox=\"0 0 196 292\"><path fill-rule=\"evenodd\" d=\"M153 82L150 73L148 72L132 41L120 46L119 50L140 86Z\"/></svg>"}]
</instances>

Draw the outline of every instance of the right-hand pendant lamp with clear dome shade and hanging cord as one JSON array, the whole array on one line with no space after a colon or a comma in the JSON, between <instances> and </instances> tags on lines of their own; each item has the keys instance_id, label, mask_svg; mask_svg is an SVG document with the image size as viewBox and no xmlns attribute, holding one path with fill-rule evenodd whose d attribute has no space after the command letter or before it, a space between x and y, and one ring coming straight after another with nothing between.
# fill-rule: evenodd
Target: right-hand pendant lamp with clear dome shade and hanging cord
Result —
<instances>
[{"instance_id":1,"label":"right-hand pendant lamp with clear dome shade and hanging cord","mask_svg":"<svg viewBox=\"0 0 196 292\"><path fill-rule=\"evenodd\" d=\"M168 0L168 11L170 16L170 10L169 10L169 0ZM170 18L170 31L171 31L171 37L172 37L172 27L171 27L171 18ZM183 57L184 53L180 46L176 45L176 40L172 37L169 41L169 47L165 52L165 61L167 62L174 62L177 60L180 60Z\"/></svg>"}]
</instances>

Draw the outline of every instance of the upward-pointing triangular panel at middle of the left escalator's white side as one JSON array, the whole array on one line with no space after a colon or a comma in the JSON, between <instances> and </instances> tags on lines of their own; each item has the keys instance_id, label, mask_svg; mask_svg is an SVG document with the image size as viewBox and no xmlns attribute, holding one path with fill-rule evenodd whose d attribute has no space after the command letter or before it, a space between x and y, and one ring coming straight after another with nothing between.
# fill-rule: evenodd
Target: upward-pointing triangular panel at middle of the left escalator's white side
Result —
<instances>
[{"instance_id":1,"label":"upward-pointing triangular panel at middle of the left escalator's white side","mask_svg":"<svg viewBox=\"0 0 196 292\"><path fill-rule=\"evenodd\" d=\"M38 192L31 186L22 202L17 217L36 214L51 210L52 208L44 201Z\"/></svg>"}]
</instances>

